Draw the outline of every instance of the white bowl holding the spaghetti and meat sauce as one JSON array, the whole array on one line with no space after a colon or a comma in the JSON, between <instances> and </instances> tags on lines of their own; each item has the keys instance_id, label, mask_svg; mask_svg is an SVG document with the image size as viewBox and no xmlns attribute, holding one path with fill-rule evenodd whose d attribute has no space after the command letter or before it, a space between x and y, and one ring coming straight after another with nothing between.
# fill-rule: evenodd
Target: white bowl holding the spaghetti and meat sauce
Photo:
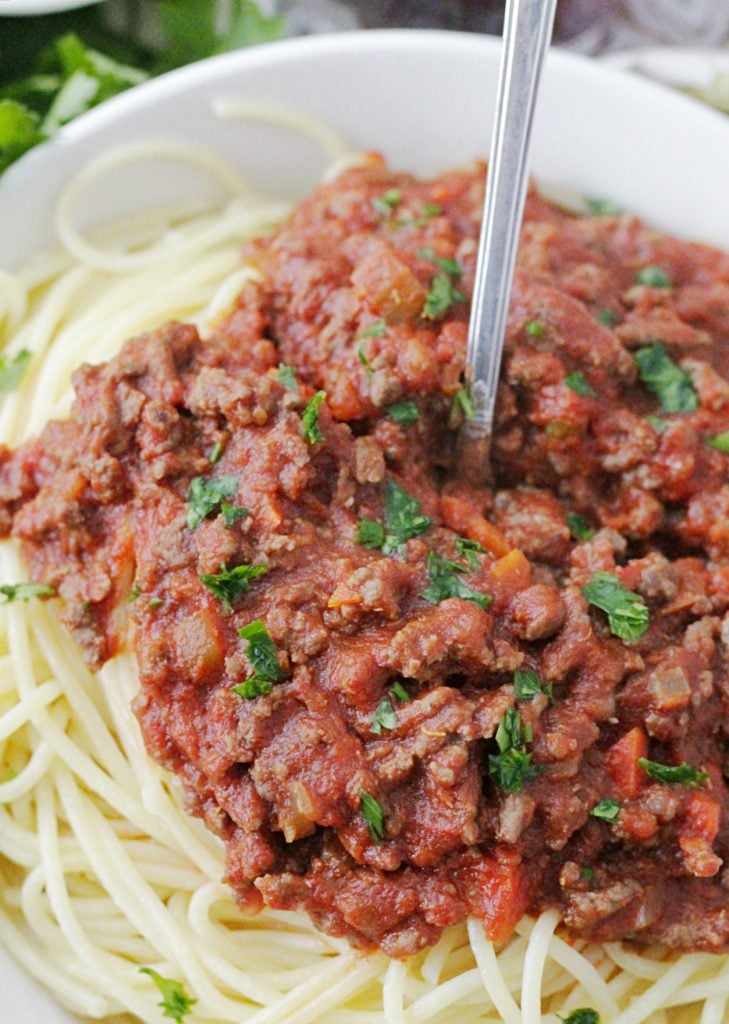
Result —
<instances>
[{"instance_id":1,"label":"white bowl holding the spaghetti and meat sauce","mask_svg":"<svg viewBox=\"0 0 729 1024\"><path fill-rule=\"evenodd\" d=\"M309 140L258 123L223 122L216 97L293 108L353 146L377 148L401 168L431 173L484 155L499 43L455 33L362 32L290 40L231 53L139 86L66 128L0 179L0 266L52 239L59 187L88 160L124 141L183 140L237 162L266 190L301 195L324 158ZM569 54L550 55L533 140L546 182L612 199L655 225L729 248L729 120L668 89ZM115 172L87 219L184 195L180 169L151 164ZM0 959L10 1021L69 1024Z\"/></svg>"}]
</instances>

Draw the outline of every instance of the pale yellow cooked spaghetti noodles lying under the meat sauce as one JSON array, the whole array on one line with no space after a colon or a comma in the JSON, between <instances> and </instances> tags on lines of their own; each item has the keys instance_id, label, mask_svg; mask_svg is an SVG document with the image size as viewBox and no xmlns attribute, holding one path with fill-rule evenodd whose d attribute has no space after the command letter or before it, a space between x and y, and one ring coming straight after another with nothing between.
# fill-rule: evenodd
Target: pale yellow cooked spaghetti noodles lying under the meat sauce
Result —
<instances>
[{"instance_id":1,"label":"pale yellow cooked spaghetti noodles lying under the meat sauce","mask_svg":"<svg viewBox=\"0 0 729 1024\"><path fill-rule=\"evenodd\" d=\"M234 103L219 113L251 116ZM313 135L341 156L326 129ZM88 184L149 156L192 163L228 198L84 237L74 217ZM3 401L0 439L17 445L67 415L80 362L167 318L204 328L254 272L239 266L241 243L286 212L189 146L130 146L84 170L58 207L62 249L0 274L6 352L32 353ZM26 577L13 542L0 570L3 582ZM504 948L472 920L406 963L353 951L303 915L244 915L220 882L221 845L145 754L135 685L129 653L90 673L52 603L0 608L0 941L74 1013L161 1021L160 993L139 972L151 967L197 1000L187 1024L540 1024L580 1007L603 1024L726 1019L729 957L567 941L554 911L522 921Z\"/></svg>"}]
</instances>

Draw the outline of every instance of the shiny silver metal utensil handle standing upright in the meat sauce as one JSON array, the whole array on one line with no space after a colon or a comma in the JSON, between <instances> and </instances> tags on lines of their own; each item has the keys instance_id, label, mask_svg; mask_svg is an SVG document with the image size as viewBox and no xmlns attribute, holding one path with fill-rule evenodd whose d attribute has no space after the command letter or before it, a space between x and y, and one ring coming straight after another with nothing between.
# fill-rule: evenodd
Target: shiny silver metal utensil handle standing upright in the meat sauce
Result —
<instances>
[{"instance_id":1,"label":"shiny silver metal utensil handle standing upright in the meat sauce","mask_svg":"<svg viewBox=\"0 0 729 1024\"><path fill-rule=\"evenodd\" d=\"M466 354L473 414L459 436L459 473L490 478L490 439L516 250L526 198L537 93L557 0L507 0L497 114Z\"/></svg>"}]
</instances>

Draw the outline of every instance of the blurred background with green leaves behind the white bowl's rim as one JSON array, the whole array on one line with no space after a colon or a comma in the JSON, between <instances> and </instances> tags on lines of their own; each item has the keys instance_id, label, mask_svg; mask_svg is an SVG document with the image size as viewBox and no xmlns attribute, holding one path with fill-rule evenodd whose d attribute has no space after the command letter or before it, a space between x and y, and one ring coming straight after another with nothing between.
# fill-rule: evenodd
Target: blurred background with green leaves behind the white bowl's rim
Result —
<instances>
[{"instance_id":1,"label":"blurred background with green leaves behind the white bowl's rim","mask_svg":"<svg viewBox=\"0 0 729 1024\"><path fill-rule=\"evenodd\" d=\"M79 114L215 53L374 28L501 33L500 0L0 0L0 172ZM729 0L560 0L556 45L729 114Z\"/></svg>"}]
</instances>

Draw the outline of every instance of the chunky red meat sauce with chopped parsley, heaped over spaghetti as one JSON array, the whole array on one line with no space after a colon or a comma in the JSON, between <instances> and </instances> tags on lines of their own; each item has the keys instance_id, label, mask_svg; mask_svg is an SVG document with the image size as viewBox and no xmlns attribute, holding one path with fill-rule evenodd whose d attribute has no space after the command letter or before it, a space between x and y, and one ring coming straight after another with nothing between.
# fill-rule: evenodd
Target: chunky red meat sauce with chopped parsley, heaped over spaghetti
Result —
<instances>
[{"instance_id":1,"label":"chunky red meat sauce with chopped parsley, heaped over spaghetti","mask_svg":"<svg viewBox=\"0 0 729 1024\"><path fill-rule=\"evenodd\" d=\"M319 188L209 337L77 371L0 525L92 666L134 650L243 907L727 949L729 257L532 190L476 490L483 176Z\"/></svg>"}]
</instances>

